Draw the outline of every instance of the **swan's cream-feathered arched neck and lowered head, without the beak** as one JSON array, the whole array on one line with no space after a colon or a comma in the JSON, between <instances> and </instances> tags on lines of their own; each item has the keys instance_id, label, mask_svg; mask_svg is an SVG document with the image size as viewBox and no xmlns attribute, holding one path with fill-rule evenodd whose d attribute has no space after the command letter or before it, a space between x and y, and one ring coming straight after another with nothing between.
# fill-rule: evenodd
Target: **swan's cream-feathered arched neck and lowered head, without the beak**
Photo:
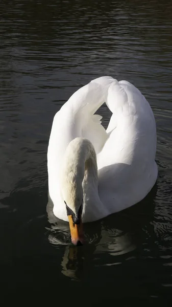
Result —
<instances>
[{"instance_id":1,"label":"swan's cream-feathered arched neck and lowered head, without the beak","mask_svg":"<svg viewBox=\"0 0 172 307\"><path fill-rule=\"evenodd\" d=\"M78 216L99 199L96 153L87 139L73 139L67 146L61 172L61 196L67 207ZM90 203L91 202L91 203ZM91 209L87 209L89 211Z\"/></svg>"}]
</instances>

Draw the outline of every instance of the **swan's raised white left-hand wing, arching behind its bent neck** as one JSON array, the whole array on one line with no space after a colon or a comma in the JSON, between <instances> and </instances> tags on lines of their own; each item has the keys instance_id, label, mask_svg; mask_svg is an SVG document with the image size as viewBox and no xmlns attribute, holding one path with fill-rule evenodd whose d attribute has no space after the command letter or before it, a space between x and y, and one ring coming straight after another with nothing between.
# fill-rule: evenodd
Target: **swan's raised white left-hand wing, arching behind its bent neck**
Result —
<instances>
[{"instance_id":1,"label":"swan's raised white left-hand wing, arching behind its bent neck","mask_svg":"<svg viewBox=\"0 0 172 307\"><path fill-rule=\"evenodd\" d=\"M56 113L47 151L48 188L54 204L58 205L59 218L66 219L65 206L61 205L60 167L65 149L77 137L88 138L96 153L99 153L107 133L101 125L101 116L96 110L105 102L106 91L112 77L97 78L75 92ZM60 211L61 210L61 211Z\"/></svg>"}]
</instances>

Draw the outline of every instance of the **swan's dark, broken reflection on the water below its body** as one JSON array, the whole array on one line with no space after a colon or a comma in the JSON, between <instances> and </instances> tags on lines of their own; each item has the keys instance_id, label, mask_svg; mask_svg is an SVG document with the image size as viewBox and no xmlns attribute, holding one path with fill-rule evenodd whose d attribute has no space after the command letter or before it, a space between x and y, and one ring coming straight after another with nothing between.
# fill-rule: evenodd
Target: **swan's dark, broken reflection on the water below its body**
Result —
<instances>
[{"instance_id":1,"label":"swan's dark, broken reflection on the water below its body","mask_svg":"<svg viewBox=\"0 0 172 307\"><path fill-rule=\"evenodd\" d=\"M55 248L65 246L61 273L72 280L81 281L86 268L90 270L91 262L94 267L114 266L121 264L120 256L130 257L127 255L142 244L142 227L145 228L153 218L156 192L155 185L149 195L136 206L101 221L84 224L86 244L81 247L72 246L68 223L53 214L53 203L48 198L46 210L50 226L46 227L46 236Z\"/></svg>"}]
</instances>

